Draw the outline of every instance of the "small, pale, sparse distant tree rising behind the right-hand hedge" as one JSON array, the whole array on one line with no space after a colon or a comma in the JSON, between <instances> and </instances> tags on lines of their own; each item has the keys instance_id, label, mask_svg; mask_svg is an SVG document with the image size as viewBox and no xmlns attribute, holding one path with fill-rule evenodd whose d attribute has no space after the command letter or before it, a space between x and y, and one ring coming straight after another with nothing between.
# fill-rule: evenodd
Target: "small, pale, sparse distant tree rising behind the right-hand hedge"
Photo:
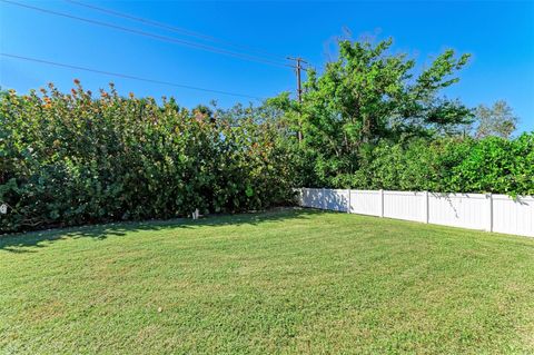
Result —
<instances>
[{"instance_id":1,"label":"small, pale, sparse distant tree rising behind the right-hand hedge","mask_svg":"<svg viewBox=\"0 0 534 355\"><path fill-rule=\"evenodd\" d=\"M475 138L481 139L488 136L510 138L517 126L517 117L513 109L504 100L493 103L493 107L478 106L475 112L476 131Z\"/></svg>"}]
</instances>

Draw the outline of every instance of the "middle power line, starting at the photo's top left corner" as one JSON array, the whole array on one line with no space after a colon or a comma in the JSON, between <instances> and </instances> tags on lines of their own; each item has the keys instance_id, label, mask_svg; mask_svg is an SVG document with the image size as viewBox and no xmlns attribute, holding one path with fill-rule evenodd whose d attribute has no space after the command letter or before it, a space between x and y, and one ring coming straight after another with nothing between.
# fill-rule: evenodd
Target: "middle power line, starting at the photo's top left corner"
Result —
<instances>
[{"instance_id":1,"label":"middle power line, starting at the photo's top left corner","mask_svg":"<svg viewBox=\"0 0 534 355\"><path fill-rule=\"evenodd\" d=\"M160 34L146 32L146 31L137 30L137 29L131 29L131 28L127 28L127 27L122 27L122 26L118 26L118 24L113 24L113 23L109 23L109 22L81 18L81 17L72 16L72 14L65 13L65 12L58 12L58 11L52 11L52 10L26 4L26 3L20 3L20 2L17 2L17 1L11 1L11 0L0 0L0 1L6 2L6 3L10 3L10 4L14 4L14 6L18 6L18 7L40 11L40 12L43 12L43 13L49 13L49 14L53 14L53 16L69 18L69 19L82 21L82 22L86 22L86 23L97 24L97 26L100 26L100 27L112 28L112 29L120 30L120 31L123 31L123 32L130 32L130 33L135 33L135 34L139 34L139 36L150 37L150 38L158 39L158 40L161 40L161 41L167 41L167 42L171 42L171 43L177 43L177 45L188 46L188 47L192 47L192 48L198 48L198 49L201 49L201 50L205 50L205 51L211 51L211 52L216 52L216 53L219 53L219 55L226 55L226 56L236 57L236 58L244 59L244 60L249 60L249 61L257 61L257 62L261 62L261 63L270 65L270 66L276 66L276 67L293 68L293 66L290 66L290 65L280 63L280 62L276 62L276 61L268 60L268 59L263 59L263 58L259 58L257 56L244 55L244 53L239 53L239 52L235 52L235 51L220 49L220 48L217 48L217 47L211 47L211 46L206 46L206 45L200 45L200 43L196 43L196 42L191 42L191 41L177 39L177 38L174 38L174 37L160 36Z\"/></svg>"}]
</instances>

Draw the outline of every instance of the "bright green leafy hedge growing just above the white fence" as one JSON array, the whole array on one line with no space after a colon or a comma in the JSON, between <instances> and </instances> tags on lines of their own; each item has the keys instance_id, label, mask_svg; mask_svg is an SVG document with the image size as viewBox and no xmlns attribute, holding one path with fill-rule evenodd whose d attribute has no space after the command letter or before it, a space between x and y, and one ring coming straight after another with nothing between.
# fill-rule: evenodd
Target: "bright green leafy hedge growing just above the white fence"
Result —
<instances>
[{"instance_id":1,"label":"bright green leafy hedge growing just above the white fence","mask_svg":"<svg viewBox=\"0 0 534 355\"><path fill-rule=\"evenodd\" d=\"M534 134L380 141L362 149L355 174L328 186L360 189L534 195Z\"/></svg>"}]
</instances>

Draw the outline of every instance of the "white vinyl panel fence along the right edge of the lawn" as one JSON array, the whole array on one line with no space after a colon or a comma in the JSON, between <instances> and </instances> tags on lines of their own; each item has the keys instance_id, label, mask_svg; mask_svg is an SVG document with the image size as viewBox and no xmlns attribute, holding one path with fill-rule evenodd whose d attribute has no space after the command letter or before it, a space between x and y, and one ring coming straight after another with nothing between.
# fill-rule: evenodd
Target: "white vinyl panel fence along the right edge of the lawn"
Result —
<instances>
[{"instance_id":1,"label":"white vinyl panel fence along the right edge of the lawn","mask_svg":"<svg viewBox=\"0 0 534 355\"><path fill-rule=\"evenodd\" d=\"M303 207L534 237L534 197L323 188L297 191Z\"/></svg>"}]
</instances>

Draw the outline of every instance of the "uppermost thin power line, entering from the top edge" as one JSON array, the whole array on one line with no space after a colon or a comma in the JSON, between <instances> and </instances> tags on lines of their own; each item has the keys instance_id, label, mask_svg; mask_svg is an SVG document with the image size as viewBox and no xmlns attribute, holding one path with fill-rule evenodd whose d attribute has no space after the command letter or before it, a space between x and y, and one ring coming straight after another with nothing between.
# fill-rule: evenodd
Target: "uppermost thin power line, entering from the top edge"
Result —
<instances>
[{"instance_id":1,"label":"uppermost thin power line, entering from the top edge","mask_svg":"<svg viewBox=\"0 0 534 355\"><path fill-rule=\"evenodd\" d=\"M257 48L253 48L253 47L249 47L249 46L238 45L238 43L227 41L227 40L222 40L222 39L219 39L219 38L216 38L216 37L212 37L212 36L208 36L208 34L204 34L204 33L200 33L200 32L191 31L191 30L188 30L188 29L185 29L185 28L181 28L181 27L176 27L176 26L167 24L167 23L150 20L150 19L136 17L136 16L132 16L132 14L129 14L129 13L119 12L119 11L116 11L116 10L97 7L95 4L86 3L86 2L81 2L81 1L76 1L76 0L63 0L63 1L76 4L76 6L79 6L79 7L83 7L83 8L87 8L87 9L91 9L91 10L95 10L95 11L99 11L99 12L102 12L102 13L111 14L111 16L115 16L115 17L119 17L119 18L123 18L123 19L128 19L128 20L134 20L134 21L137 21L137 22L141 22L141 23L145 23L145 24L152 26L152 27L162 28L162 29L170 30L170 31L174 31L174 32L177 32L177 33L180 33L180 34L185 34L185 36L189 36L189 37L196 37L196 38L199 38L199 39L202 39L202 40L207 40L207 41L211 41L211 42L216 42L216 43L220 43L220 45L225 45L225 46L230 46L230 47L238 48L238 49L246 50L246 51L254 51L254 52L257 52L257 53L260 53L260 55L264 55L264 56L270 57L273 59L277 59L277 60L280 60L280 59L284 60L283 57L279 56L279 55L275 55L275 53L271 53L271 52L268 52L268 51L265 51L265 50L260 50L260 49L257 49Z\"/></svg>"}]
</instances>

